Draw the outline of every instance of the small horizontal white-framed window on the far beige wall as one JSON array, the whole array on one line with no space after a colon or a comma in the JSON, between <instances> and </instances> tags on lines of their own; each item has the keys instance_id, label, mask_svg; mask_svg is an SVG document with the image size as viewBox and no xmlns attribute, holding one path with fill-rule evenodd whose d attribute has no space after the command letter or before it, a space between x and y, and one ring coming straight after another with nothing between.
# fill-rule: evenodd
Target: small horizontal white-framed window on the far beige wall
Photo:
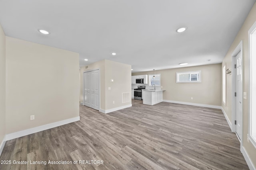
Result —
<instances>
[{"instance_id":1,"label":"small horizontal white-framed window on the far beige wall","mask_svg":"<svg viewBox=\"0 0 256 170\"><path fill-rule=\"evenodd\" d=\"M176 83L201 82L201 70L189 72L176 72Z\"/></svg>"}]
</instances>

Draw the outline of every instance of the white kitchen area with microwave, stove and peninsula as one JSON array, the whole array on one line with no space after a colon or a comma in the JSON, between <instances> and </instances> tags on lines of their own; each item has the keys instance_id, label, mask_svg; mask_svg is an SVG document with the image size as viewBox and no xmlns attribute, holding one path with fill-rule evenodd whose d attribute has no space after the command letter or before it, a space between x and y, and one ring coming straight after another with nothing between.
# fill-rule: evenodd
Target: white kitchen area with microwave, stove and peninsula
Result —
<instances>
[{"instance_id":1,"label":"white kitchen area with microwave, stove and peninsula","mask_svg":"<svg viewBox=\"0 0 256 170\"><path fill-rule=\"evenodd\" d=\"M160 77L137 75L132 76L132 99L143 100L143 104L154 105L163 101Z\"/></svg>"}]
</instances>

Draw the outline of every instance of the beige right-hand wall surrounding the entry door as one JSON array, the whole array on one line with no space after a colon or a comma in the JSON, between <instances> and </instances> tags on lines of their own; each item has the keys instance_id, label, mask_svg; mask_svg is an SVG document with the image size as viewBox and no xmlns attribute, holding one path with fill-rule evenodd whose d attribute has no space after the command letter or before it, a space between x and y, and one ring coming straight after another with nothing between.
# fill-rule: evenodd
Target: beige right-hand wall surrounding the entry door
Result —
<instances>
[{"instance_id":1,"label":"beige right-hand wall surrounding the entry door","mask_svg":"<svg viewBox=\"0 0 256 170\"><path fill-rule=\"evenodd\" d=\"M252 164L254 164L254 167L256 167L256 148L250 143L250 141L247 141L247 134L248 134L248 120L249 120L249 46L248 46L248 31L252 27L252 25L256 22L256 4L252 7L252 10L248 14L246 20L244 21L244 24L242 25L240 31L236 35L236 38L234 39L232 45L230 46L230 49L228 50L223 62L222 66L226 64L226 69L229 68L229 70L232 70L232 53L238 46L241 40L243 40L243 49L244 49L244 58L243 58L243 92L247 93L247 99L243 99L243 147L244 150L247 152L248 157L252 160ZM234 71L232 72L234 74ZM232 75L226 76L226 106L222 104L222 107L224 111L226 112L226 115L228 116L228 119L232 120ZM231 122L232 123L232 122Z\"/></svg>"}]
</instances>

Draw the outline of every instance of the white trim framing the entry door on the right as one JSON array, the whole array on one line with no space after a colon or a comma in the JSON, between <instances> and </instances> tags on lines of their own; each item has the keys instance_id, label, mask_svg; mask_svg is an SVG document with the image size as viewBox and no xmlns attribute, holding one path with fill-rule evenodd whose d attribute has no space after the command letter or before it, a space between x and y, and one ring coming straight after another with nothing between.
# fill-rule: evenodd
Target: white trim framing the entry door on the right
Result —
<instances>
[{"instance_id":1,"label":"white trim framing the entry door on the right","mask_svg":"<svg viewBox=\"0 0 256 170\"><path fill-rule=\"evenodd\" d=\"M241 62L242 62L242 73L241 73L241 81L242 81L242 95L243 96L243 91L244 91L244 81L243 81L243 73L244 73L244 49L243 49L243 40L240 41L236 49L233 51L231 57L232 57L232 68L234 68L234 64L236 64L235 57L236 55L241 51ZM234 96L236 92L236 72L232 71L232 118L231 118L231 124L232 124L232 132L236 133L236 125L235 125L235 120L236 120L236 97ZM242 120L241 120L241 139L240 139L240 151L242 152L242 145L243 145L243 138L244 138L244 100L242 98Z\"/></svg>"}]
</instances>

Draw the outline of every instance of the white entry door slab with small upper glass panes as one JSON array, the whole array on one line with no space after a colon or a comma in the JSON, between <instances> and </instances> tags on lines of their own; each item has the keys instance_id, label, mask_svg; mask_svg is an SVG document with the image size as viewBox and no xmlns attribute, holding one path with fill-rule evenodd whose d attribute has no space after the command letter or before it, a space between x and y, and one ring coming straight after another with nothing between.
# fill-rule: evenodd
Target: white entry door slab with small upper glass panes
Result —
<instances>
[{"instance_id":1,"label":"white entry door slab with small upper glass panes","mask_svg":"<svg viewBox=\"0 0 256 170\"><path fill-rule=\"evenodd\" d=\"M241 51L236 55L236 134L242 137L242 59Z\"/></svg>"}]
</instances>

